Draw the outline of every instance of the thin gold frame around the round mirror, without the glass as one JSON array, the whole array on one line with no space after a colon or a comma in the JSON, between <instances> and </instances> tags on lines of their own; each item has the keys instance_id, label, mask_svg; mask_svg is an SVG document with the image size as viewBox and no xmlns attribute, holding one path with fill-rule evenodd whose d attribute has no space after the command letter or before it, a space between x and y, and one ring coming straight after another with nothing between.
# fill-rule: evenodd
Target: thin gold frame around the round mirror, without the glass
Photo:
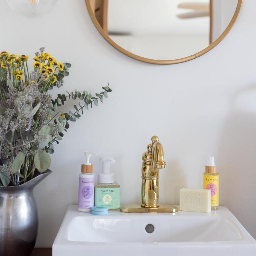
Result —
<instances>
[{"instance_id":1,"label":"thin gold frame around the round mirror, without the glass","mask_svg":"<svg viewBox=\"0 0 256 256\"><path fill-rule=\"evenodd\" d=\"M147 63L153 63L153 64L161 64L161 65L168 65L168 64L176 64L176 63L181 63L181 62L185 62L188 60L192 60L195 59L197 57L200 57L201 55L209 52L211 49L213 49L217 44L219 44L228 34L228 32L231 30L231 28L233 27L234 23L236 22L236 19L238 17L238 14L240 12L241 6L242 6L242 2L243 0L238 0L237 3L237 8L236 11L234 12L234 15L230 21L230 23L228 24L227 28L224 30L224 32L213 42L211 43L208 47L204 48L202 51L181 58L181 59L174 59L174 60L156 60L156 59L148 59L148 58L144 58L142 56L133 54L129 51L127 51L126 49L122 48L120 45L118 45L117 43L115 43L109 36L108 34L101 28L100 24L98 23L93 10L91 9L91 5L90 5L90 0L85 0L86 2L86 6L87 6L87 10L90 14L91 20L93 21L95 27L99 30L99 32L101 33L101 35L106 39L106 41L108 41L112 46L114 46L118 51L120 51L121 53L133 58L133 59L137 59L140 61L144 61Z\"/></svg>"}]
</instances>

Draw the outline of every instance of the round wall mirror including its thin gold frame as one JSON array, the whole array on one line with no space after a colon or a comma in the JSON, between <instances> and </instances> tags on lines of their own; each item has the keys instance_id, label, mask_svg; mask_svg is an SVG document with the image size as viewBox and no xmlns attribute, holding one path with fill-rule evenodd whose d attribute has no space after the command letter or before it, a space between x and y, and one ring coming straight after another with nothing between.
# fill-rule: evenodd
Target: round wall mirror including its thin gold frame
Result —
<instances>
[{"instance_id":1,"label":"round wall mirror including its thin gold frame","mask_svg":"<svg viewBox=\"0 0 256 256\"><path fill-rule=\"evenodd\" d=\"M214 48L237 19L242 0L85 0L102 36L148 63L175 64Z\"/></svg>"}]
</instances>

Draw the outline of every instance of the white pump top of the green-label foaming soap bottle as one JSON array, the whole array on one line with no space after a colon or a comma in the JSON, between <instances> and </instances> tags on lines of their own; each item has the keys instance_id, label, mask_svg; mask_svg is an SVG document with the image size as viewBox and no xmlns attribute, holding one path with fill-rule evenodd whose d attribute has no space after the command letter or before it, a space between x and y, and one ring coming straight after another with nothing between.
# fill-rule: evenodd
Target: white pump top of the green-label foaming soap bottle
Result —
<instances>
[{"instance_id":1,"label":"white pump top of the green-label foaming soap bottle","mask_svg":"<svg viewBox=\"0 0 256 256\"><path fill-rule=\"evenodd\" d=\"M102 156L100 157L102 161L102 172L98 173L98 182L99 183L114 183L115 177L114 173L110 172L110 163L114 163L115 160L113 157Z\"/></svg>"}]
</instances>

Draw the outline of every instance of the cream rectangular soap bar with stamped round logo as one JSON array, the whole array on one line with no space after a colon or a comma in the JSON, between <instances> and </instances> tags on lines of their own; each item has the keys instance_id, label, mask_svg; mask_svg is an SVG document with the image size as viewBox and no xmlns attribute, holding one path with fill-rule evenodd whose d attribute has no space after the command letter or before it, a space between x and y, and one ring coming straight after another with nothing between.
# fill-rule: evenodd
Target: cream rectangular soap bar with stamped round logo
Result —
<instances>
[{"instance_id":1,"label":"cream rectangular soap bar with stamped round logo","mask_svg":"<svg viewBox=\"0 0 256 256\"><path fill-rule=\"evenodd\" d=\"M182 188L180 190L180 210L188 212L210 212L211 190Z\"/></svg>"}]
</instances>

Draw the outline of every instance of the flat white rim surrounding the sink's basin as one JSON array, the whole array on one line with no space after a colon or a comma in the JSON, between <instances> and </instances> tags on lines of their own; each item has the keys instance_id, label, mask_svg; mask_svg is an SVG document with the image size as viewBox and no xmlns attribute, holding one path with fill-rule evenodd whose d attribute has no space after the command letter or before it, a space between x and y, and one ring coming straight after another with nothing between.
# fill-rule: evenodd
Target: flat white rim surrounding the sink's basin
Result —
<instances>
[{"instance_id":1,"label":"flat white rim surrounding the sink's basin","mask_svg":"<svg viewBox=\"0 0 256 256\"><path fill-rule=\"evenodd\" d=\"M178 209L179 206L177 205ZM238 229L242 239L241 240L235 240L235 241L199 241L199 242L86 242L86 241L72 241L68 239L68 230L71 227L71 223L74 222L75 217L77 216L88 216L90 218L94 219L112 219L112 218L120 218L120 219L126 219L127 216L145 218L146 216L169 216L169 217L187 217L187 216L197 216L197 217L209 217L209 216L220 216L220 217L226 217L229 219L229 221L232 222L234 226ZM70 222L72 220L72 222ZM63 246L63 245L69 245L69 246L124 246L124 245L133 245L133 246L145 246L145 244L152 245L152 246L161 246L161 247L236 247L236 246L255 246L256 248L256 241L251 236L250 233L240 224L240 222L237 220L237 218L228 210L225 206L220 206L218 210L212 211L209 213L198 213L198 212L183 212L178 210L176 213L124 213L120 212L119 210L111 210L109 211L109 215L104 216L98 216L98 215L92 215L91 213L82 213L77 210L77 205L69 205L67 212L65 214L65 217L62 221L62 224L60 226L60 229L57 233L57 236L54 240L53 247L57 246Z\"/></svg>"}]
</instances>

